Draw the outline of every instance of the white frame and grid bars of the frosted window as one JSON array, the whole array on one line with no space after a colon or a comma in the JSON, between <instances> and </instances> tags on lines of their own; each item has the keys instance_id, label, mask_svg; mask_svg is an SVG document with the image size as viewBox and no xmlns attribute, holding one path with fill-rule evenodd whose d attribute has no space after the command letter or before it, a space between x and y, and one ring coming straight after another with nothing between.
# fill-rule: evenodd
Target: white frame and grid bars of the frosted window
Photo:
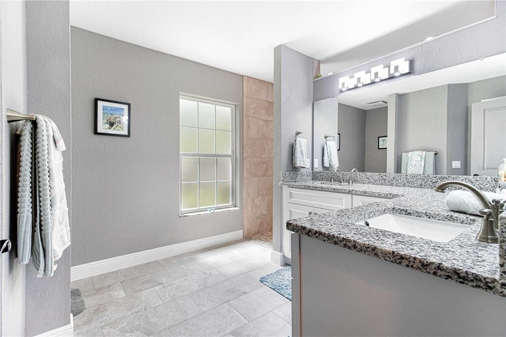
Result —
<instances>
[{"instance_id":1,"label":"white frame and grid bars of the frosted window","mask_svg":"<svg viewBox=\"0 0 506 337\"><path fill-rule=\"evenodd\" d=\"M197 181L188 181L188 182L183 182L183 178L182 178L182 174L181 175L181 178L180 178L180 213L181 214L185 214L185 213L191 213L191 212L195 212L196 210L205 210L205 209L220 209L220 208L228 208L228 207L231 207L231 206L234 206L234 203L235 203L235 195L234 195L234 189L235 189L235 106L233 105L230 105L230 104L224 104L224 103L219 103L219 102L213 102L213 101L207 101L207 100L200 100L200 99L195 99L195 98L192 98L192 97L186 97L186 96L180 96L180 102L181 100L187 100L187 101L193 101L193 102L196 102L197 103L197 121L196 121L196 124L197 124L197 127L188 127L186 125L181 125L181 123L179 123L179 128L188 128L188 129L196 129L197 130L197 139L196 139L196 146L197 146L197 152L194 153L194 152L180 152L180 173L182 173L182 159L183 158L196 158L197 159ZM214 124L215 124L215 129L210 129L210 128L200 128L199 127L199 104L198 103L206 103L206 104L212 104L214 105ZM217 118L216 118L216 108L217 106L223 106L223 107L227 107L227 108L230 108L230 130L225 130L225 129L218 129L217 128ZM181 114L181 105L180 105L180 114ZM181 117L180 117L181 118ZM214 151L215 153L200 153L200 144L199 144L199 133L198 131L202 129L202 130L210 130L210 131L214 131L215 132L215 135L214 135ZM230 154L224 154L224 153L216 153L217 151L217 146L216 146L216 131L223 131L223 132L229 132L230 133ZM180 140L181 141L181 140ZM214 161L214 174L215 174L215 180L205 180L205 181L201 181L200 180L200 159L201 158L215 158L215 161ZM230 158L230 179L228 180L218 180L218 159L219 158ZM230 187L229 187L229 201L228 203L225 203L225 204L218 204L218 183L220 182L230 182ZM200 206L200 184L201 183L214 183L214 188L215 188L215 202L214 202L214 205L211 205L211 206ZM182 187L183 185L188 185L188 184L196 184L197 186L197 196L196 196L196 201L197 201L197 207L193 207L193 208L182 208L182 198L183 198L183 193L182 193Z\"/></svg>"}]
</instances>

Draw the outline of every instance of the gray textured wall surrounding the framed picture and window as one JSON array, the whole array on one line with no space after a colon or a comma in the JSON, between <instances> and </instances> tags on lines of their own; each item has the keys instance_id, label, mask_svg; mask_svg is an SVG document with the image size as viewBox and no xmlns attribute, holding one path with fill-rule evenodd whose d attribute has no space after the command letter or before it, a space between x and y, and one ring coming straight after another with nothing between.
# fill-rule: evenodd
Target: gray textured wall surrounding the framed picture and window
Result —
<instances>
[{"instance_id":1,"label":"gray textured wall surrounding the framed picture and window","mask_svg":"<svg viewBox=\"0 0 506 337\"><path fill-rule=\"evenodd\" d=\"M242 131L242 76L75 27L71 35L72 265L242 229L242 209L179 217L178 141L180 93L237 103ZM132 104L130 138L94 135L95 97Z\"/></svg>"}]
</instances>

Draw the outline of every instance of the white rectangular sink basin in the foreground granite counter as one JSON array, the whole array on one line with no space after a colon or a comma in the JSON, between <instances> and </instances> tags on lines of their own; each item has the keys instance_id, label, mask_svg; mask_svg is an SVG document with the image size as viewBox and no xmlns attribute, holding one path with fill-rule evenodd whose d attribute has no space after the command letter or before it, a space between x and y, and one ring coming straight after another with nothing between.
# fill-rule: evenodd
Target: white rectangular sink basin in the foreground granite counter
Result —
<instances>
[{"instance_id":1,"label":"white rectangular sink basin in the foreground granite counter","mask_svg":"<svg viewBox=\"0 0 506 337\"><path fill-rule=\"evenodd\" d=\"M469 225L403 216L393 213L387 213L365 221L369 223L369 227L380 228L395 233L417 236L439 242L448 242L469 228ZM357 224L365 225L365 221L359 221Z\"/></svg>"}]
</instances>

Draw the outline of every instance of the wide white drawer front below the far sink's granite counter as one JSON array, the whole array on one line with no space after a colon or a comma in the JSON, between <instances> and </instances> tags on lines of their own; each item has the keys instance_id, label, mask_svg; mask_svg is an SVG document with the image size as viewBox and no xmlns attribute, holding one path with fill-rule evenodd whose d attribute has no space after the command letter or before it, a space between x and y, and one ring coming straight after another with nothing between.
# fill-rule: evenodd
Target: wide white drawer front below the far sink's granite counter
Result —
<instances>
[{"instance_id":1,"label":"wide white drawer front below the far sink's granite counter","mask_svg":"<svg viewBox=\"0 0 506 337\"><path fill-rule=\"evenodd\" d=\"M345 193L288 187L285 189L284 201L318 208L338 210L351 207L352 196L351 194Z\"/></svg>"}]
</instances>

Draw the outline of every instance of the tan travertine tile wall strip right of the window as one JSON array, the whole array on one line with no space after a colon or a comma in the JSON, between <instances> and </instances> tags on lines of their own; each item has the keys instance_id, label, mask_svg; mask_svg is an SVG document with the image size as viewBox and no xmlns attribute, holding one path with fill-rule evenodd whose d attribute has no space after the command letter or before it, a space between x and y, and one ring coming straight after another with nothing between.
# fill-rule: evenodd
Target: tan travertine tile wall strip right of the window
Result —
<instances>
[{"instance_id":1,"label":"tan travertine tile wall strip right of the window","mask_svg":"<svg viewBox=\"0 0 506 337\"><path fill-rule=\"evenodd\" d=\"M243 77L244 238L272 231L274 85Z\"/></svg>"}]
</instances>

